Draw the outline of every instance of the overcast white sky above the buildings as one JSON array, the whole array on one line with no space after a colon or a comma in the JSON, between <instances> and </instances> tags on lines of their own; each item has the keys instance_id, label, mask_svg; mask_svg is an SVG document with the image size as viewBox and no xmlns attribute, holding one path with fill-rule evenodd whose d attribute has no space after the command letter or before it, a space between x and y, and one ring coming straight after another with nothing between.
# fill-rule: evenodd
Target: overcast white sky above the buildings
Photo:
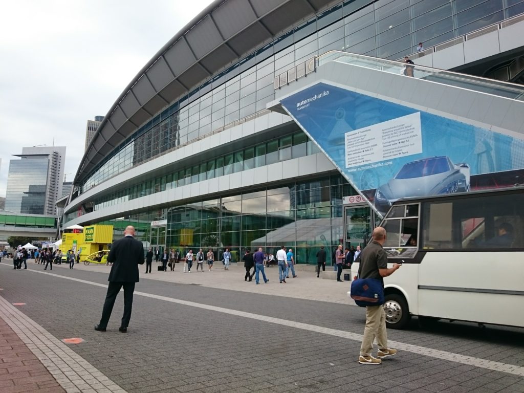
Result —
<instances>
[{"instance_id":1,"label":"overcast white sky above the buildings","mask_svg":"<svg viewBox=\"0 0 524 393\"><path fill-rule=\"evenodd\" d=\"M0 24L0 196L22 147L66 146L73 180L85 125L210 0L17 0Z\"/></svg>"}]
</instances>

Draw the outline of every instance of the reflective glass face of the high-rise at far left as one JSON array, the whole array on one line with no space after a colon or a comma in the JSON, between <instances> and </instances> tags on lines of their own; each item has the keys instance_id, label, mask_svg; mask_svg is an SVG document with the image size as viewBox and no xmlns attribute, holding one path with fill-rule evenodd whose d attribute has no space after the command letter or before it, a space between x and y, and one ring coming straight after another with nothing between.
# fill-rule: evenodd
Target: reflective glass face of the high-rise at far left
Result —
<instances>
[{"instance_id":1,"label":"reflective glass face of the high-rise at far left","mask_svg":"<svg viewBox=\"0 0 524 393\"><path fill-rule=\"evenodd\" d=\"M5 210L13 213L45 214L48 156L10 160Z\"/></svg>"}]
</instances>

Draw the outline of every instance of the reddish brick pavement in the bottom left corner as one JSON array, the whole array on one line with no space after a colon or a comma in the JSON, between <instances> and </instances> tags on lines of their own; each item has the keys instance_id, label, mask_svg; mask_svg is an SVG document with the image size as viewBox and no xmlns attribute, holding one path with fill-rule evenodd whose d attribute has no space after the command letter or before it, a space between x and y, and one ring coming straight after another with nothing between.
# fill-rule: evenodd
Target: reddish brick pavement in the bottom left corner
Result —
<instances>
[{"instance_id":1,"label":"reddish brick pavement in the bottom left corner","mask_svg":"<svg viewBox=\"0 0 524 393\"><path fill-rule=\"evenodd\" d=\"M49 370L2 318L0 318L0 391L2 393L65 392Z\"/></svg>"}]
</instances>

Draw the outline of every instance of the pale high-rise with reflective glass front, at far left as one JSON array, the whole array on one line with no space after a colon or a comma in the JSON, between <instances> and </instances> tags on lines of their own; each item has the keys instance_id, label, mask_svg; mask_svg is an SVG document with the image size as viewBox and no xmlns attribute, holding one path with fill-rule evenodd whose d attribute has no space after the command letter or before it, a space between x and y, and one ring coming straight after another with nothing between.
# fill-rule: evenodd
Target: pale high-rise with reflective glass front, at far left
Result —
<instances>
[{"instance_id":1,"label":"pale high-rise with reflective glass front, at far left","mask_svg":"<svg viewBox=\"0 0 524 393\"><path fill-rule=\"evenodd\" d=\"M54 214L62 196L65 146L22 148L9 161L5 209L14 213Z\"/></svg>"}]
</instances>

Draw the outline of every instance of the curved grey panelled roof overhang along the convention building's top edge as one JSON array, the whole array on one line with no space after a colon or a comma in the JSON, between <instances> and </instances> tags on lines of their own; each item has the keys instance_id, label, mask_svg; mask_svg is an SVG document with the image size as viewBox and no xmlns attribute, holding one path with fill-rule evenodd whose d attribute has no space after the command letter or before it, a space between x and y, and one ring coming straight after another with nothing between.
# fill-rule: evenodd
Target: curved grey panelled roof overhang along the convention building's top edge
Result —
<instances>
[{"instance_id":1,"label":"curved grey panelled roof overhang along the convention building's top edge","mask_svg":"<svg viewBox=\"0 0 524 393\"><path fill-rule=\"evenodd\" d=\"M124 89L85 151L74 183L162 108L228 64L340 0L215 0L183 27Z\"/></svg>"}]
</instances>

